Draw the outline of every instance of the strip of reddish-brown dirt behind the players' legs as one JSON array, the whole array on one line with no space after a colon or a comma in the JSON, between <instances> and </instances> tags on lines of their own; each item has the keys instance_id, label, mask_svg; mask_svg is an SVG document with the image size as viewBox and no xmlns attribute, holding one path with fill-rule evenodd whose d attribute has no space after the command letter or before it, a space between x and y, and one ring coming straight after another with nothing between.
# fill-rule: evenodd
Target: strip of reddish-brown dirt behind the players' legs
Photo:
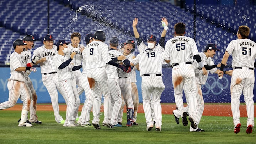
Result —
<instances>
[{"instance_id":1,"label":"strip of reddish-brown dirt behind the players' legs","mask_svg":"<svg viewBox=\"0 0 256 144\"><path fill-rule=\"evenodd\" d=\"M80 105L79 111L82 111L82 106ZM175 104L162 104L162 113L163 114L172 114L172 110L175 110L176 105ZM254 109L256 108L256 105L254 105ZM5 110L21 110L22 105L16 104L14 107L11 107L9 109ZM59 105L60 111L66 111L66 105ZM46 105L37 105L37 111L53 111L51 104ZM103 106L101 107L101 111L103 111ZM126 112L126 109L124 109L124 112ZM143 105L140 104L138 108L139 113L144 113ZM231 105L205 105L204 107L204 116L232 116L231 112ZM254 116L256 115L256 111L254 111ZM240 116L241 117L247 117L246 113L246 105L240 105Z\"/></svg>"}]
</instances>

